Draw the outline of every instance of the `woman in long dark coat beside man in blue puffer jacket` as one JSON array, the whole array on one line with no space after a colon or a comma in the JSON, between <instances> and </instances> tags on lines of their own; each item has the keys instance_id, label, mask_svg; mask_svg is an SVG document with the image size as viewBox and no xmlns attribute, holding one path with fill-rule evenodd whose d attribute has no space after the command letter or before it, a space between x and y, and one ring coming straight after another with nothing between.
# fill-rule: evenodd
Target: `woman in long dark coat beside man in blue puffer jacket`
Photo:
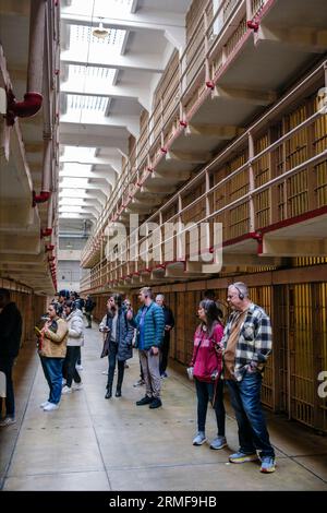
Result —
<instances>
[{"instance_id":1,"label":"woman in long dark coat beside man in blue puffer jacket","mask_svg":"<svg viewBox=\"0 0 327 513\"><path fill-rule=\"evenodd\" d=\"M116 369L116 361L118 362L118 379L116 397L121 397L121 389L124 379L125 361L133 356L133 335L134 329L126 318L126 309L122 303L120 294L110 296L107 302L108 313L102 319L99 330L107 333L109 337L109 369L106 399L112 396L112 382Z\"/></svg>"}]
</instances>

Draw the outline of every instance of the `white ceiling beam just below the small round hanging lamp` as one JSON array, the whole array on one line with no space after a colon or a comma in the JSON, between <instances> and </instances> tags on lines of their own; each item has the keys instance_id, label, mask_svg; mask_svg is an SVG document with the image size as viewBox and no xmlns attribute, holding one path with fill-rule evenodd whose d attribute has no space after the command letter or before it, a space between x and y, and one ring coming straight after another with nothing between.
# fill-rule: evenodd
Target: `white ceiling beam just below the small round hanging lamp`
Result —
<instances>
[{"instance_id":1,"label":"white ceiling beam just below the small round hanging lamp","mask_svg":"<svg viewBox=\"0 0 327 513\"><path fill-rule=\"evenodd\" d=\"M80 55L71 50L61 52L61 62L63 64L85 65L86 60L81 59ZM97 55L89 56L87 65L95 65L97 68L113 68L116 70L134 70L137 72L147 71L150 73L164 73L164 67L160 64L160 56L156 53L142 53L138 55L114 55L108 51L107 60L99 58Z\"/></svg>"}]
</instances>

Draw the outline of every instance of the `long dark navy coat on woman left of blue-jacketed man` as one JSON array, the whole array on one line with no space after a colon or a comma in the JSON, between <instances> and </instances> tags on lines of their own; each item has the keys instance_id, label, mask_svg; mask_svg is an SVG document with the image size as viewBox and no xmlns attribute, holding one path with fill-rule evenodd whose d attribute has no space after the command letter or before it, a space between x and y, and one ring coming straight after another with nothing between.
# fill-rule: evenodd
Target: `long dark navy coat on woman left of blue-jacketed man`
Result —
<instances>
[{"instance_id":1,"label":"long dark navy coat on woman left of blue-jacketed man","mask_svg":"<svg viewBox=\"0 0 327 513\"><path fill-rule=\"evenodd\" d=\"M100 329L104 325L106 319L106 325L111 332L112 315L107 314L100 323ZM107 336L110 337L110 332ZM118 354L117 359L119 361L129 360L133 356L132 341L134 335L134 329L126 319L126 311L124 308L120 308L118 312L117 327L116 327L116 341L118 342Z\"/></svg>"}]
</instances>

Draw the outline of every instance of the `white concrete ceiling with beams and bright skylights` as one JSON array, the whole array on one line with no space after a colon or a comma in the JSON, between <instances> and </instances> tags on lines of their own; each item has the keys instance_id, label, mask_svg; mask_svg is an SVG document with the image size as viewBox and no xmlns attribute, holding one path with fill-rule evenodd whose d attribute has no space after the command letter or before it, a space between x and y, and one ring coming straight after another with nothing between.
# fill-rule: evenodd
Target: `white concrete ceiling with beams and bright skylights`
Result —
<instances>
[{"instance_id":1,"label":"white concrete ceiling with beams and bright skylights","mask_svg":"<svg viewBox=\"0 0 327 513\"><path fill-rule=\"evenodd\" d=\"M134 142L130 138L140 136L140 116L144 109L150 112L162 71L173 50L184 44L190 4L190 0L61 2L59 198L61 212L75 212L74 218L60 214L60 230L68 225L71 230L74 224L78 229L84 218L97 220ZM109 32L105 39L93 35L99 22ZM78 158L68 157L74 147L81 148ZM85 148L92 148L88 155ZM66 177L77 181L88 177L84 188L74 188L75 206L65 192Z\"/></svg>"}]
</instances>

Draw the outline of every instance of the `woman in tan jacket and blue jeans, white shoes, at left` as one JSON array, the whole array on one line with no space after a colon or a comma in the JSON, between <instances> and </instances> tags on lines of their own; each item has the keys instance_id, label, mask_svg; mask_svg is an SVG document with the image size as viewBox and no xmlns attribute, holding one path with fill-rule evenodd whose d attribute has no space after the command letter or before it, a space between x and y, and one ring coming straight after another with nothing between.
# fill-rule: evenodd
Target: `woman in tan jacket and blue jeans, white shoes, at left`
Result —
<instances>
[{"instance_id":1,"label":"woman in tan jacket and blue jeans, white shoes, at left","mask_svg":"<svg viewBox=\"0 0 327 513\"><path fill-rule=\"evenodd\" d=\"M49 305L48 321L40 331L38 354L50 393L40 407L57 409L61 398L62 363L66 353L68 324L59 317L60 306Z\"/></svg>"}]
</instances>

